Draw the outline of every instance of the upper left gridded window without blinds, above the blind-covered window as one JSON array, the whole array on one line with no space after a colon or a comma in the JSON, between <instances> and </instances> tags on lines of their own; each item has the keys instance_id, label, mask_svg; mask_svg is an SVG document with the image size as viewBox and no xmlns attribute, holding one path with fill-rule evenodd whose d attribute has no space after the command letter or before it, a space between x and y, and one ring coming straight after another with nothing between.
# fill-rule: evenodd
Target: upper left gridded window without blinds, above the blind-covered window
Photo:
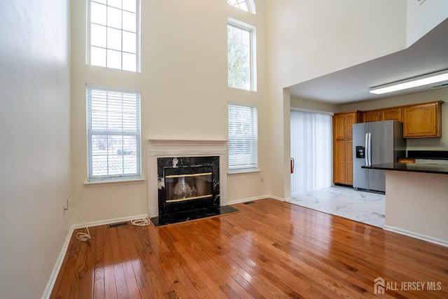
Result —
<instances>
[{"instance_id":1,"label":"upper left gridded window without blinds, above the blind-covered window","mask_svg":"<svg viewBox=\"0 0 448 299\"><path fill-rule=\"evenodd\" d=\"M87 3L87 64L139 71L139 0Z\"/></svg>"}]
</instances>

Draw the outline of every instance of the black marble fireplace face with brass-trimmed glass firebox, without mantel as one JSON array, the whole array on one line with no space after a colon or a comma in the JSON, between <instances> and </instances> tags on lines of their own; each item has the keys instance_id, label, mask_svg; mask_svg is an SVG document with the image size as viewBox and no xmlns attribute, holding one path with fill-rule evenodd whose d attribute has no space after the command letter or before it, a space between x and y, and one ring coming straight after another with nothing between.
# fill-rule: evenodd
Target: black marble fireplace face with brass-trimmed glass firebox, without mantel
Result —
<instances>
[{"instance_id":1,"label":"black marble fireplace face with brass-trimmed glass firebox, without mantel","mask_svg":"<svg viewBox=\"0 0 448 299\"><path fill-rule=\"evenodd\" d=\"M159 216L219 206L218 156L158 158Z\"/></svg>"}]
</instances>

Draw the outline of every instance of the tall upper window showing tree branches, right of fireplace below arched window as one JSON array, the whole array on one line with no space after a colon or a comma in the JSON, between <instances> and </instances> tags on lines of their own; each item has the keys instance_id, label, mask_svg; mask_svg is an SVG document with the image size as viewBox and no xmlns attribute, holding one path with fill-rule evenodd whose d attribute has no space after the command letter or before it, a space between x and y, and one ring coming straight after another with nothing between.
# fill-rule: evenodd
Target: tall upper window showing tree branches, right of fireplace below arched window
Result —
<instances>
[{"instance_id":1,"label":"tall upper window showing tree branches, right of fireplace below arched window","mask_svg":"<svg viewBox=\"0 0 448 299\"><path fill-rule=\"evenodd\" d=\"M255 27L229 20L227 31L228 86L255 91Z\"/></svg>"}]
</instances>

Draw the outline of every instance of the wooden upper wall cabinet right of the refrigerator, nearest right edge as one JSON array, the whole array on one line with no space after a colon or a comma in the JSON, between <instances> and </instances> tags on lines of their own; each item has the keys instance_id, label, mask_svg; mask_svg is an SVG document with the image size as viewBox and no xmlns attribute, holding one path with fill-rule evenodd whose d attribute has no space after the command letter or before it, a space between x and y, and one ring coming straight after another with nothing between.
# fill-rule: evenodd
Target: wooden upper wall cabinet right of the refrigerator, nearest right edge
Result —
<instances>
[{"instance_id":1,"label":"wooden upper wall cabinet right of the refrigerator, nearest right edge","mask_svg":"<svg viewBox=\"0 0 448 299\"><path fill-rule=\"evenodd\" d=\"M442 137L442 103L403 107L403 137Z\"/></svg>"}]
</instances>

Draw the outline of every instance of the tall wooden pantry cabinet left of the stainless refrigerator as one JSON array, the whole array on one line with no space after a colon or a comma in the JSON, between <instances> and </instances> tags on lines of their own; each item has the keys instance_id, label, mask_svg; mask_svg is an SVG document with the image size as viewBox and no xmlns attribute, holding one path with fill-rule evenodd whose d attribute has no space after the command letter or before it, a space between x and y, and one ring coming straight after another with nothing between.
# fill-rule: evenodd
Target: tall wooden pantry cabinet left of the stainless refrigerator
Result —
<instances>
[{"instance_id":1,"label":"tall wooden pantry cabinet left of the stainless refrigerator","mask_svg":"<svg viewBox=\"0 0 448 299\"><path fill-rule=\"evenodd\" d=\"M333 116L333 181L353 184L353 123L361 123L360 111L335 113Z\"/></svg>"}]
</instances>

